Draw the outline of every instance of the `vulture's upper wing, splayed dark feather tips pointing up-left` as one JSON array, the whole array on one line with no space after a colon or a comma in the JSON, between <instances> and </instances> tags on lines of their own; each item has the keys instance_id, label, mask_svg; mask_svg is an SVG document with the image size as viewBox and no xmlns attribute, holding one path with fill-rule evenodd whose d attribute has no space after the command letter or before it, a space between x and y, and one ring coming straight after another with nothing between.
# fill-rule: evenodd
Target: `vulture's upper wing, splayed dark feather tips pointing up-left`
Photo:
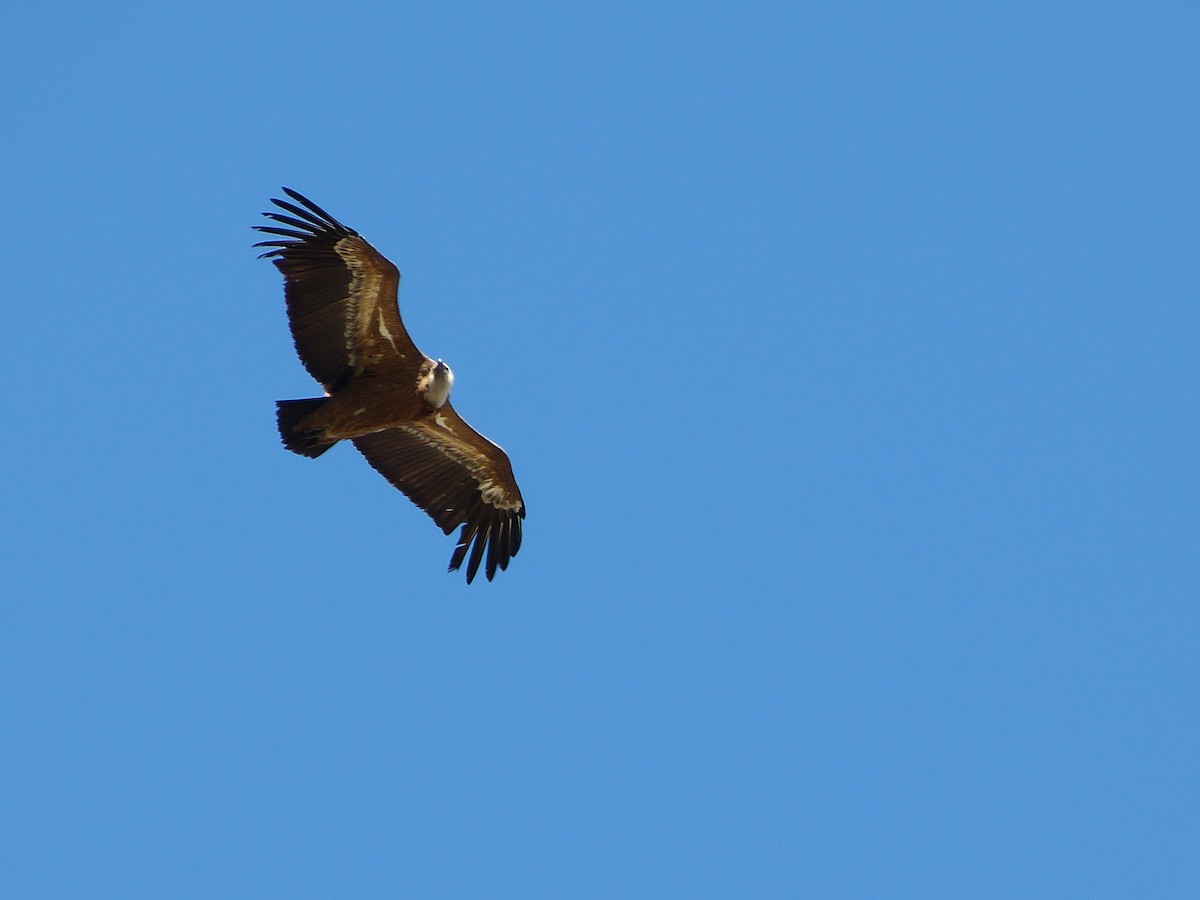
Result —
<instances>
[{"instance_id":1,"label":"vulture's upper wing, splayed dark feather tips pointing up-left","mask_svg":"<svg viewBox=\"0 0 1200 900\"><path fill-rule=\"evenodd\" d=\"M283 191L295 203L271 203L290 215L264 212L277 226L256 230L286 240L254 246L274 247L263 257L283 272L288 323L305 368L328 391L367 368L415 370L424 356L400 318L400 270L307 197Z\"/></svg>"}]
</instances>

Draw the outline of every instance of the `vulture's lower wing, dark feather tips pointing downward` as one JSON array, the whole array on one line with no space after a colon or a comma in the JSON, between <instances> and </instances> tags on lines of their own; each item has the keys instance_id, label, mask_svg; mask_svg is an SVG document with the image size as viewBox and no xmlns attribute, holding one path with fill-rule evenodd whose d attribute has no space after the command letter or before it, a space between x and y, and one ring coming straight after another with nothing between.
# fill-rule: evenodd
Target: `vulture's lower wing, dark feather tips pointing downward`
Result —
<instances>
[{"instance_id":1,"label":"vulture's lower wing, dark feather tips pointing downward","mask_svg":"<svg viewBox=\"0 0 1200 900\"><path fill-rule=\"evenodd\" d=\"M409 425L354 438L354 445L445 534L462 526L450 571L467 559L469 584L485 550L488 581L497 569L508 569L521 548L521 488L508 455L454 407L446 403Z\"/></svg>"}]
</instances>

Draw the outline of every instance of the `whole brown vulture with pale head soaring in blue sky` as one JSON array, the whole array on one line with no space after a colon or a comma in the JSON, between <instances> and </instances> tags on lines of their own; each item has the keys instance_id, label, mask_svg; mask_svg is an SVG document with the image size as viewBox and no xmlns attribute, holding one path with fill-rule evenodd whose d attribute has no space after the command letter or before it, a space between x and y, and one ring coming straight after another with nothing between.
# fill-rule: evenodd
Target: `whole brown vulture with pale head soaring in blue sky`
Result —
<instances>
[{"instance_id":1,"label":"whole brown vulture with pale head soaring in blue sky","mask_svg":"<svg viewBox=\"0 0 1200 900\"><path fill-rule=\"evenodd\" d=\"M486 556L491 581L521 548L524 500L509 457L455 412L454 374L408 336L400 270L312 200L283 190L295 203L271 203L288 215L264 212L277 224L256 229L284 240L254 246L271 247L263 257L283 272L296 353L326 394L276 403L284 446L316 458L353 442L445 534L462 526L450 571L466 559L469 584Z\"/></svg>"}]
</instances>

